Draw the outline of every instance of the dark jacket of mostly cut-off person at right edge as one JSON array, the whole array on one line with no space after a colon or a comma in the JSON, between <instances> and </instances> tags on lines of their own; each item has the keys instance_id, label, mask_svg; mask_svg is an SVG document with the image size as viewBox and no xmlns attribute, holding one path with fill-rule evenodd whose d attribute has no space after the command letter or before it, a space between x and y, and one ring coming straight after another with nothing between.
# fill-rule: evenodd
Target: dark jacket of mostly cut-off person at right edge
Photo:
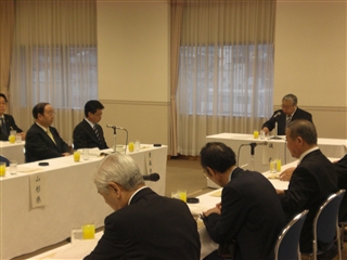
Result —
<instances>
[{"instance_id":1,"label":"dark jacket of mostly cut-off person at right edge","mask_svg":"<svg viewBox=\"0 0 347 260\"><path fill-rule=\"evenodd\" d=\"M337 162L334 164L335 171L337 173L337 187L344 188L347 192L347 154ZM347 195L345 196L339 206L339 220L347 221Z\"/></svg>"}]
</instances>

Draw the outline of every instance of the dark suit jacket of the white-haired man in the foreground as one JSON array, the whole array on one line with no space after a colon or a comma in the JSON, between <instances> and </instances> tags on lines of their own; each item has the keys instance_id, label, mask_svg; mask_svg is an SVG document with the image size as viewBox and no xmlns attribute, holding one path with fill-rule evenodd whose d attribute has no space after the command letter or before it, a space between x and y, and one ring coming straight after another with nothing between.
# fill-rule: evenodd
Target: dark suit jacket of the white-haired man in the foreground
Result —
<instances>
[{"instance_id":1,"label":"dark suit jacket of the white-haired man in the foreground","mask_svg":"<svg viewBox=\"0 0 347 260\"><path fill-rule=\"evenodd\" d=\"M185 203L145 187L105 219L104 234L85 259L200 259L196 221Z\"/></svg>"}]
</instances>

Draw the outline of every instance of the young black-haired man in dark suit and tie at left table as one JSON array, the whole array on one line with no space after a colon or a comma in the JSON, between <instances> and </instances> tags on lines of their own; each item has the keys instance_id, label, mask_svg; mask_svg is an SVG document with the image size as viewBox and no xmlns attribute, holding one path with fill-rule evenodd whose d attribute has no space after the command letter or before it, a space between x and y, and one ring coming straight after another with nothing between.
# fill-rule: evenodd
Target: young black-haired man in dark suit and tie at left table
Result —
<instances>
[{"instance_id":1,"label":"young black-haired man in dark suit and tie at left table","mask_svg":"<svg viewBox=\"0 0 347 260\"><path fill-rule=\"evenodd\" d=\"M86 118L79 122L74 130L74 150L93 147L100 150L108 148L102 127L99 125L103 108L103 104L97 100L91 100L86 103Z\"/></svg>"}]
</instances>

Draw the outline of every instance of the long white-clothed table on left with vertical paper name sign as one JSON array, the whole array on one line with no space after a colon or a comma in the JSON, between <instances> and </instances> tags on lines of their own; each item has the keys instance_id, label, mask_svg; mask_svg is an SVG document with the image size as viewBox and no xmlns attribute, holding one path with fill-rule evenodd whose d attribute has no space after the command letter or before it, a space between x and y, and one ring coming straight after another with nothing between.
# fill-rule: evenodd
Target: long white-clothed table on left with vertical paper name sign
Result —
<instances>
[{"instance_id":1,"label":"long white-clothed table on left with vertical paper name sign","mask_svg":"<svg viewBox=\"0 0 347 260\"><path fill-rule=\"evenodd\" d=\"M112 150L102 151L113 153ZM142 144L128 153L142 174L159 173L157 182L146 185L165 195L167 146ZM11 259L65 240L72 230L86 223L104 225L112 212L98 194L92 173L104 156L89 155L74 161L74 156L18 165L17 174L0 178L0 259Z\"/></svg>"}]
</instances>

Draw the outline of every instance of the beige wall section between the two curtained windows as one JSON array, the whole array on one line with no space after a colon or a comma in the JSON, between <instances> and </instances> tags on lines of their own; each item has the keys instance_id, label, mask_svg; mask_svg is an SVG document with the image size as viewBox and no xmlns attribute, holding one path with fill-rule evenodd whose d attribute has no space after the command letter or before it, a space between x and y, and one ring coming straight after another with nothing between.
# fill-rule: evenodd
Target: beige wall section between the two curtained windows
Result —
<instances>
[{"instance_id":1,"label":"beige wall section between the two curtained windows","mask_svg":"<svg viewBox=\"0 0 347 260\"><path fill-rule=\"evenodd\" d=\"M101 125L126 128L129 140L169 143L169 4L98 1ZM113 131L105 129L108 146ZM117 132L125 143L125 132Z\"/></svg>"}]
</instances>

